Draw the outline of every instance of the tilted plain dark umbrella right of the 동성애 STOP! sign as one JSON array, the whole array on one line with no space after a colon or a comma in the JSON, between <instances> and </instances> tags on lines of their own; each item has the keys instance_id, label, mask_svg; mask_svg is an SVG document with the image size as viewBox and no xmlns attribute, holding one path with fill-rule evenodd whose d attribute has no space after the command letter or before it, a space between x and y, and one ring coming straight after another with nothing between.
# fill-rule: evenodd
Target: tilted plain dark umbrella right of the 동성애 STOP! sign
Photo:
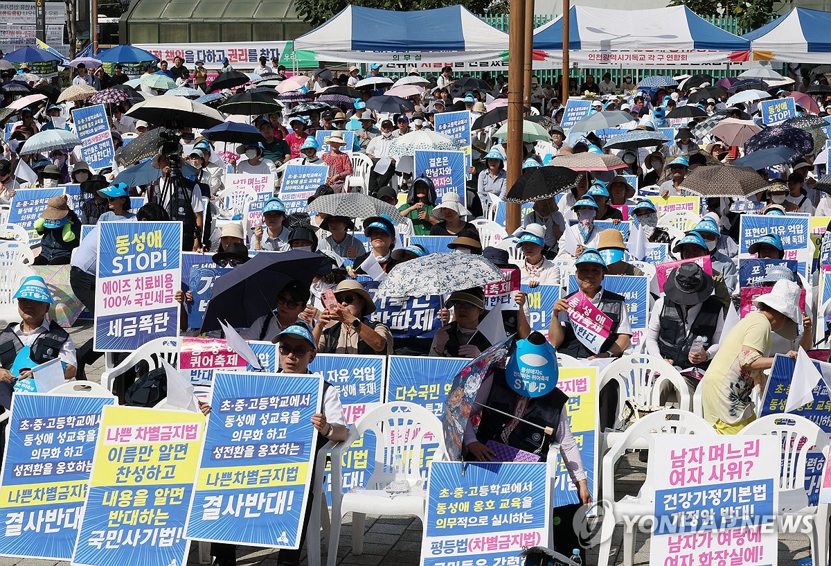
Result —
<instances>
[{"instance_id":1,"label":"tilted plain dark umbrella right of the \ub3d9\uc131\uc560 STOP! sign","mask_svg":"<svg viewBox=\"0 0 831 566\"><path fill-rule=\"evenodd\" d=\"M288 283L297 281L302 288L310 286L324 259L320 253L294 249L258 253L214 282L200 332L219 330L220 320L235 328L250 327L277 308L277 293Z\"/></svg>"}]
</instances>

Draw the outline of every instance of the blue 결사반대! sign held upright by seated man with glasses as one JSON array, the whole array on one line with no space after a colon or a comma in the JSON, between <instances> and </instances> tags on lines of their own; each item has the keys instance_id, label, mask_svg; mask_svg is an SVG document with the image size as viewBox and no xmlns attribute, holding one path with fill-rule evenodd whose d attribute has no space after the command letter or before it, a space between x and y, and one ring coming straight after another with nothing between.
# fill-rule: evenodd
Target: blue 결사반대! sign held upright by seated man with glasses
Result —
<instances>
[{"instance_id":1,"label":"blue \uacb0\uc0ac\ubc18\ub300! sign held upright by seated man with glasses","mask_svg":"<svg viewBox=\"0 0 831 566\"><path fill-rule=\"evenodd\" d=\"M215 374L189 539L300 546L322 391L319 376Z\"/></svg>"}]
</instances>

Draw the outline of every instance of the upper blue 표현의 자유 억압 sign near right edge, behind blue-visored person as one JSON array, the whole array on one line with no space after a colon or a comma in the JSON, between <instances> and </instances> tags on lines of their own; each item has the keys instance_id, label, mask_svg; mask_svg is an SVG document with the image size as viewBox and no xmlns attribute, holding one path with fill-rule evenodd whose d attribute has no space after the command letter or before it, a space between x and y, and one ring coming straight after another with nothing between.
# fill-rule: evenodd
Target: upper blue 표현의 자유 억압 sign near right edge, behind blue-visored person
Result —
<instances>
[{"instance_id":1,"label":"upper blue \ud45c\ud604\uc758 \uc790\uc720 \uc5b5\uc555 sign near right edge, behind blue-visored person","mask_svg":"<svg viewBox=\"0 0 831 566\"><path fill-rule=\"evenodd\" d=\"M765 236L777 234L782 239L784 259L795 259L799 273L808 276L812 258L809 253L810 215L793 213L787 216L771 214L742 214L739 229L739 258L755 258L750 246Z\"/></svg>"}]
</instances>

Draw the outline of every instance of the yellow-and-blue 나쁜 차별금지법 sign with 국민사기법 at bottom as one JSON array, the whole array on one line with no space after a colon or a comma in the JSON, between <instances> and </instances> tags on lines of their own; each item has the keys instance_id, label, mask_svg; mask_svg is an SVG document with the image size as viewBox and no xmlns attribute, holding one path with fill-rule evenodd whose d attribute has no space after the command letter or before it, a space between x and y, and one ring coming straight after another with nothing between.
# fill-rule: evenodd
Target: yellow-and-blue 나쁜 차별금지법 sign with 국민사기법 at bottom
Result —
<instances>
[{"instance_id":1,"label":"yellow-and-blue \ub098\uc05c \ucc28\ubcc4\uae08\uc9c0\ubc95 sign with \uad6d\ubbfc\uc0ac\uae30\ubc95 at bottom","mask_svg":"<svg viewBox=\"0 0 831 566\"><path fill-rule=\"evenodd\" d=\"M127 406L101 415L72 564L186 564L204 415Z\"/></svg>"}]
</instances>

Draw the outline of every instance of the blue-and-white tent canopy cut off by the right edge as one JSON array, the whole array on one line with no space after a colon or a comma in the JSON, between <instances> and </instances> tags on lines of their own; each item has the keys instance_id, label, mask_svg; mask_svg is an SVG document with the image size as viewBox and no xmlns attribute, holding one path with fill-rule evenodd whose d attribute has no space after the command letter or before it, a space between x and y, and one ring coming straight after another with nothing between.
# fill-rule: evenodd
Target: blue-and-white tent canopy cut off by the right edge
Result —
<instances>
[{"instance_id":1,"label":"blue-and-white tent canopy cut off by the right edge","mask_svg":"<svg viewBox=\"0 0 831 566\"><path fill-rule=\"evenodd\" d=\"M794 7L749 33L756 61L831 62L831 12Z\"/></svg>"}]
</instances>

